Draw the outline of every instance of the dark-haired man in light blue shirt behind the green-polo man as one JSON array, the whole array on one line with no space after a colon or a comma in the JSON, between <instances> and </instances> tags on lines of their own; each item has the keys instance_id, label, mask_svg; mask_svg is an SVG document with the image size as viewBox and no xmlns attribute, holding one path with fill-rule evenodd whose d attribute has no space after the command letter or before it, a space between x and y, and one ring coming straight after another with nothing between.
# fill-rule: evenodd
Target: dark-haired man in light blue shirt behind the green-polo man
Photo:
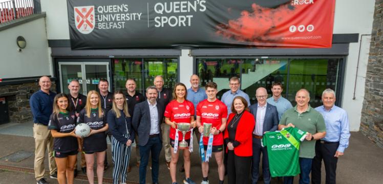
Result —
<instances>
[{"instance_id":1,"label":"dark-haired man in light blue shirt behind the green-polo man","mask_svg":"<svg viewBox=\"0 0 383 184\"><path fill-rule=\"evenodd\" d=\"M280 82L273 83L271 86L272 96L267 98L267 103L276 107L278 111L278 120L281 120L283 113L292 108L289 100L282 96L283 86Z\"/></svg>"}]
</instances>

